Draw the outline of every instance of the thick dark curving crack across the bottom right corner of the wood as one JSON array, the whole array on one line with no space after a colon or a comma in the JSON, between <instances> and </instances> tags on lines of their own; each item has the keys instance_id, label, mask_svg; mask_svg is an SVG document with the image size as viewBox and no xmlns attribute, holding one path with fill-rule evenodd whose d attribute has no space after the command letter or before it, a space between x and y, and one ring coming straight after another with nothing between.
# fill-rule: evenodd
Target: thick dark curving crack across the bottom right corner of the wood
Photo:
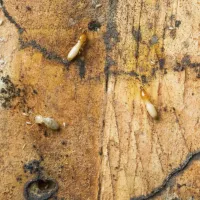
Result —
<instances>
[{"instance_id":1,"label":"thick dark curving crack across the bottom right corner of the wood","mask_svg":"<svg viewBox=\"0 0 200 200\"><path fill-rule=\"evenodd\" d=\"M185 161L183 161L179 165L179 167L173 169L172 172L164 179L162 184L157 188L153 189L149 194L141 195L138 197L132 197L130 200L149 200L150 198L153 198L156 195L160 194L167 188L168 183L171 181L171 179L176 177L180 172L184 171L186 167L195 159L196 156L200 156L200 150L189 153Z\"/></svg>"}]
</instances>

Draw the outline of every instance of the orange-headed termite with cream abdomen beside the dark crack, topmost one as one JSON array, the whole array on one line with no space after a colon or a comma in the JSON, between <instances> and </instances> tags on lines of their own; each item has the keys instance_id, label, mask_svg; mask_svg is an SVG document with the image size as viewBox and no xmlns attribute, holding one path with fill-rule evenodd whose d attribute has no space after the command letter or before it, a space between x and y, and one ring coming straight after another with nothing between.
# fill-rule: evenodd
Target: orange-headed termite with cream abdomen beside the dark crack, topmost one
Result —
<instances>
[{"instance_id":1,"label":"orange-headed termite with cream abdomen beside the dark crack, topmost one","mask_svg":"<svg viewBox=\"0 0 200 200\"><path fill-rule=\"evenodd\" d=\"M73 59L78 55L78 53L80 52L80 50L81 50L81 49L83 48L83 46L85 45L86 40L87 40L86 33L83 32L83 33L81 34L81 36L79 37L78 42L72 47L72 49L71 49L70 52L68 53L68 56L67 56L67 60L68 60L68 61L73 60Z\"/></svg>"}]
</instances>

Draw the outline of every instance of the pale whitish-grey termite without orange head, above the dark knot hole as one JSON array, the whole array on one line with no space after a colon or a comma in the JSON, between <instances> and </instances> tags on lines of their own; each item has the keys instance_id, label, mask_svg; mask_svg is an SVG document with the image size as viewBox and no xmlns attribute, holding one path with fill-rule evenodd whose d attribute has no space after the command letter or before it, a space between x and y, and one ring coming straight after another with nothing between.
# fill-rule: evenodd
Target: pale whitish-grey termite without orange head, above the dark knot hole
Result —
<instances>
[{"instance_id":1,"label":"pale whitish-grey termite without orange head, above the dark knot hole","mask_svg":"<svg viewBox=\"0 0 200 200\"><path fill-rule=\"evenodd\" d=\"M52 130L59 130L60 125L56 122L53 118L50 117L43 117L41 115L35 116L35 123L36 124L45 124L47 128Z\"/></svg>"}]
</instances>

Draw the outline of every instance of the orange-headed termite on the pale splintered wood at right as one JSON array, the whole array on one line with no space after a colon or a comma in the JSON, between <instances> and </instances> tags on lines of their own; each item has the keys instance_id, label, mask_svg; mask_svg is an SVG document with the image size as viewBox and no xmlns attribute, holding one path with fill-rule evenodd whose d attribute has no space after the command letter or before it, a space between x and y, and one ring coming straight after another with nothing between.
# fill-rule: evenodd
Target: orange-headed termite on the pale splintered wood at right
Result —
<instances>
[{"instance_id":1,"label":"orange-headed termite on the pale splintered wood at right","mask_svg":"<svg viewBox=\"0 0 200 200\"><path fill-rule=\"evenodd\" d=\"M146 109L147 109L149 115L154 119L158 119L158 113L156 111L156 108L151 103L149 95L147 94L147 92L144 90L144 88L142 86L140 87L140 96L146 105Z\"/></svg>"}]
</instances>

